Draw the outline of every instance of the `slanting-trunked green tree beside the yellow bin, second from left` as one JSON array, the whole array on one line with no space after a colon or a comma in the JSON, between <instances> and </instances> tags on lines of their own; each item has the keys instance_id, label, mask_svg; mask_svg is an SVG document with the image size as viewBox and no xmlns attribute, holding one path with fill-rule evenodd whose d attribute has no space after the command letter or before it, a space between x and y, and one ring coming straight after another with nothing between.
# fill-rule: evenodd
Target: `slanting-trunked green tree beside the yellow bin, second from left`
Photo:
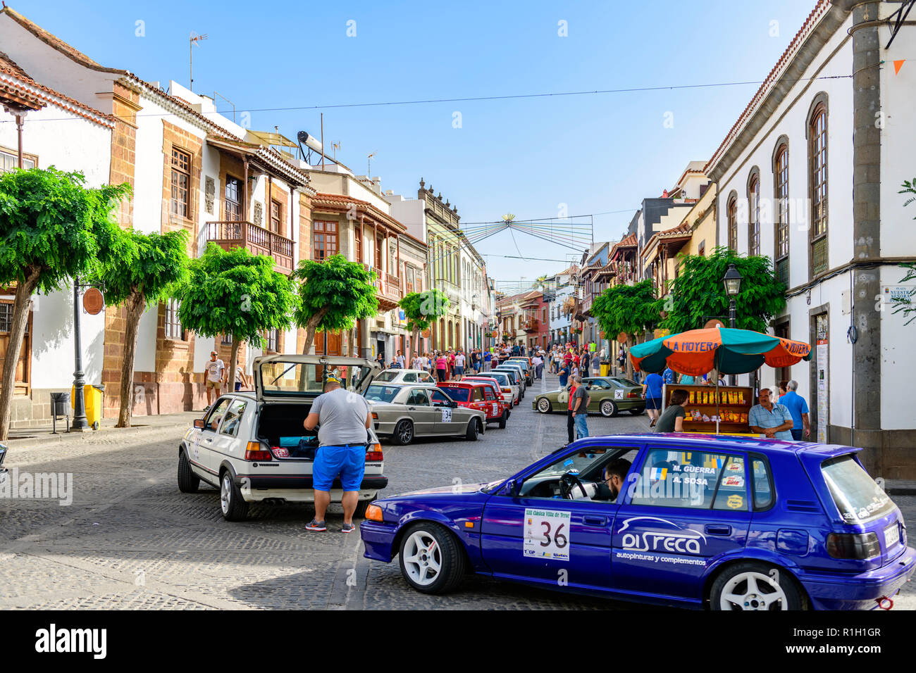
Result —
<instances>
[{"instance_id":1,"label":"slanting-trunked green tree beside the yellow bin, second from left","mask_svg":"<svg viewBox=\"0 0 916 673\"><path fill-rule=\"evenodd\" d=\"M98 266L93 280L104 287L105 303L124 306L124 360L121 363L121 408L118 428L130 427L134 395L134 355L140 319L147 307L169 299L188 273L188 235L185 231L169 233L139 233L133 229L123 233L135 252Z\"/></svg>"}]
</instances>

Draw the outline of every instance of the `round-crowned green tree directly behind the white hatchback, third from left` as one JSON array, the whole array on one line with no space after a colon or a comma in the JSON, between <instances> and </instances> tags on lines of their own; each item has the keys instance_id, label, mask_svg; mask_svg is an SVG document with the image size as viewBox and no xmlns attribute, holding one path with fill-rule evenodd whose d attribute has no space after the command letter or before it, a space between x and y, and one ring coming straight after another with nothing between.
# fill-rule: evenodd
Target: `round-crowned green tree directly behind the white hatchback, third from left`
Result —
<instances>
[{"instance_id":1,"label":"round-crowned green tree directly behind the white hatchback, third from left","mask_svg":"<svg viewBox=\"0 0 916 673\"><path fill-rule=\"evenodd\" d=\"M219 245L188 263L188 276L174 292L181 325L202 336L232 335L229 389L235 383L242 342L264 345L263 332L289 327L299 301L295 284L274 271L274 260L246 248Z\"/></svg>"}]
</instances>

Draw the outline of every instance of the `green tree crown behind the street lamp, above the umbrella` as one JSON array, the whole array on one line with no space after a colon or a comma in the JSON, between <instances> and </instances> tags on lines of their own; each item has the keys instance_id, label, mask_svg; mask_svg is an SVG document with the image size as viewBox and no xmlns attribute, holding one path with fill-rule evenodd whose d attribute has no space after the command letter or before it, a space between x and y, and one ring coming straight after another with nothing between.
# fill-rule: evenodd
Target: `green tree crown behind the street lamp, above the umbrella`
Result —
<instances>
[{"instance_id":1,"label":"green tree crown behind the street lamp, above the umbrella","mask_svg":"<svg viewBox=\"0 0 916 673\"><path fill-rule=\"evenodd\" d=\"M678 277L671 281L661 326L671 333L698 330L710 318L727 316L728 295L722 278L730 264L744 278L735 300L736 327L766 332L769 321L786 306L786 288L773 275L768 256L742 257L727 247L717 247L709 256L683 255L679 259Z\"/></svg>"}]
</instances>

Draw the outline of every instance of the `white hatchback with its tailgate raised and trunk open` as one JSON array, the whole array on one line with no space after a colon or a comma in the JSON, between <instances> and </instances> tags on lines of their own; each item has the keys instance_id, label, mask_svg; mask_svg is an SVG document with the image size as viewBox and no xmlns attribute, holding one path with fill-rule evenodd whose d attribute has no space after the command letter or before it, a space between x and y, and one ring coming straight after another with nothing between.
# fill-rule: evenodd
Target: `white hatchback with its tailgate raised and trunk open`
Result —
<instances>
[{"instance_id":1,"label":"white hatchback with its tailgate raised and trunk open","mask_svg":"<svg viewBox=\"0 0 916 673\"><path fill-rule=\"evenodd\" d=\"M241 521L249 503L312 503L311 466L318 448L318 430L302 423L323 382L335 375L344 387L363 395L379 367L362 358L331 355L278 354L252 364L255 392L219 397L203 418L194 421L181 439L178 486L194 493L201 481L220 490L220 508L227 521ZM365 476L356 516L387 486L383 455L375 431L366 430ZM334 480L331 502L343 497Z\"/></svg>"}]
</instances>

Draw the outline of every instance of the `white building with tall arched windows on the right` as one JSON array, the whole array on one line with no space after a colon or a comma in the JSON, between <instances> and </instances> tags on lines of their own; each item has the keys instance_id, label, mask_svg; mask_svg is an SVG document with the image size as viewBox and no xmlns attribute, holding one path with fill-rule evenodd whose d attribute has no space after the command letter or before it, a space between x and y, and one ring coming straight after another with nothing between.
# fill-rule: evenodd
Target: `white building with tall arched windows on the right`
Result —
<instances>
[{"instance_id":1,"label":"white building with tall arched windows on the right","mask_svg":"<svg viewBox=\"0 0 916 673\"><path fill-rule=\"evenodd\" d=\"M764 367L762 384L797 380L813 440L864 447L873 473L913 479L916 330L888 299L916 259L916 213L898 194L916 157L916 68L893 66L916 28L888 49L875 20L899 8L818 2L705 170L718 244L774 260L788 289L772 329L812 344L810 364Z\"/></svg>"}]
</instances>

